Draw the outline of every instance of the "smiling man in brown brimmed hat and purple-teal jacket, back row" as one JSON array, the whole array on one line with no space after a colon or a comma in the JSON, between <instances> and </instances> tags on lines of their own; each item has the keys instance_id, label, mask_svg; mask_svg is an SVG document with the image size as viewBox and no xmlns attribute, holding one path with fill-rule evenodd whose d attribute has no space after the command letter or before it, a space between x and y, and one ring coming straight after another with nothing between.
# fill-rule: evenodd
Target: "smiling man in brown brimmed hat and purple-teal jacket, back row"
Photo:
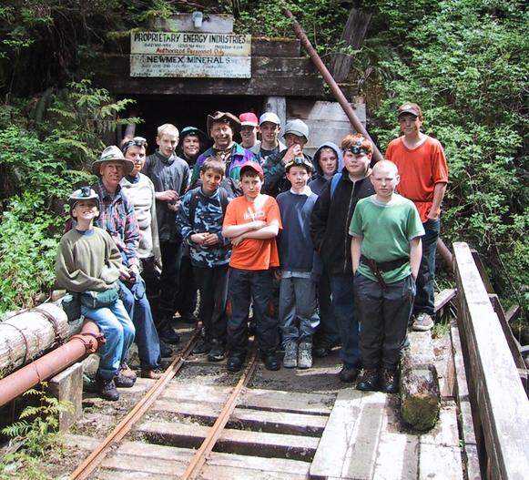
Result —
<instances>
[{"instance_id":1,"label":"smiling man in brown brimmed hat and purple-teal jacket, back row","mask_svg":"<svg viewBox=\"0 0 529 480\"><path fill-rule=\"evenodd\" d=\"M213 147L208 148L197 159L191 177L191 185L198 179L200 166L209 157L219 158L226 165L226 177L239 180L240 166L255 157L246 148L233 141L233 136L240 132L238 117L229 112L215 112L208 116L208 133L213 140Z\"/></svg>"}]
</instances>

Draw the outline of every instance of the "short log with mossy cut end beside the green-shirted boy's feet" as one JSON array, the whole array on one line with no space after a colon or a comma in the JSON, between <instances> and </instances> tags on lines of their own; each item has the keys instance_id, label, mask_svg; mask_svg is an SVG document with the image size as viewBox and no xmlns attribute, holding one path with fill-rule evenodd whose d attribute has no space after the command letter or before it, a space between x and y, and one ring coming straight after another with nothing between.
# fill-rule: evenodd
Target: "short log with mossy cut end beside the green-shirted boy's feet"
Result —
<instances>
[{"instance_id":1,"label":"short log with mossy cut end beside the green-shirted boy's feet","mask_svg":"<svg viewBox=\"0 0 529 480\"><path fill-rule=\"evenodd\" d=\"M409 332L408 339L401 361L402 419L416 430L430 430L441 409L432 332Z\"/></svg>"}]
</instances>

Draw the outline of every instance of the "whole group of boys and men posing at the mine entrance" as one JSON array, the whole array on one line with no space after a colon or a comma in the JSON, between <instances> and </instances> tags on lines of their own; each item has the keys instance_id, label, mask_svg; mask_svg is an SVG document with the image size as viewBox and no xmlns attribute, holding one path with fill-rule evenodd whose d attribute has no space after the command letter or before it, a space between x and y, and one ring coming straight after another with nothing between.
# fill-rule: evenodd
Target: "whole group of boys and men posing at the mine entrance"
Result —
<instances>
[{"instance_id":1,"label":"whole group of boys and men posing at the mine entrance","mask_svg":"<svg viewBox=\"0 0 529 480\"><path fill-rule=\"evenodd\" d=\"M174 315L195 322L197 299L193 352L227 356L230 372L242 368L253 330L269 370L280 368L279 346L285 368L307 369L341 345L341 382L360 374L360 390L397 392L408 324L433 325L448 181L421 107L403 104L398 119L402 137L372 168L361 134L310 158L308 126L287 122L283 144L272 112L209 115L204 151L204 132L171 124L158 128L152 155L145 138L107 147L92 166L97 183L68 199L56 260L57 280L107 339L101 396L117 400L117 387L136 380L133 341L141 375L159 378L160 358L179 340Z\"/></svg>"}]
</instances>

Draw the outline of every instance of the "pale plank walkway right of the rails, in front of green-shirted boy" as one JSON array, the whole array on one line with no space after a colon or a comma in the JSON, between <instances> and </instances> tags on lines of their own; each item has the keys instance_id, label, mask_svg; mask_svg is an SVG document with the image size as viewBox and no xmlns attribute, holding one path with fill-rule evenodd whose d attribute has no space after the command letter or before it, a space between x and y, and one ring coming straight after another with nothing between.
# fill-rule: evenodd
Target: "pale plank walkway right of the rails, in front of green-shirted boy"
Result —
<instances>
[{"instance_id":1,"label":"pale plank walkway right of the rails, in front of green-shirted boy","mask_svg":"<svg viewBox=\"0 0 529 480\"><path fill-rule=\"evenodd\" d=\"M400 424L395 396L341 390L310 478L415 478L419 439Z\"/></svg>"}]
</instances>

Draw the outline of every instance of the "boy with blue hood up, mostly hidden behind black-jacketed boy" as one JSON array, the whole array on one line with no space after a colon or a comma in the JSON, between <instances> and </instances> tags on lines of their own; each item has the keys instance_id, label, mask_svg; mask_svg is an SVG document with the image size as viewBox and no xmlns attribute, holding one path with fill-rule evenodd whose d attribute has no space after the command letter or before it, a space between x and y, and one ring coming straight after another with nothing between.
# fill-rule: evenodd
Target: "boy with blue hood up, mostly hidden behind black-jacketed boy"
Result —
<instances>
[{"instance_id":1,"label":"boy with blue hood up, mostly hidden behind black-jacketed boy","mask_svg":"<svg viewBox=\"0 0 529 480\"><path fill-rule=\"evenodd\" d=\"M313 193L320 195L325 184L332 179L335 173L343 169L343 156L340 147L332 142L322 143L316 150L312 163L314 174L309 186ZM314 335L312 352L315 357L325 357L331 352L332 347L340 344L340 332L338 332L338 324L332 311L331 285L326 271L321 272L316 289L320 327Z\"/></svg>"}]
</instances>

